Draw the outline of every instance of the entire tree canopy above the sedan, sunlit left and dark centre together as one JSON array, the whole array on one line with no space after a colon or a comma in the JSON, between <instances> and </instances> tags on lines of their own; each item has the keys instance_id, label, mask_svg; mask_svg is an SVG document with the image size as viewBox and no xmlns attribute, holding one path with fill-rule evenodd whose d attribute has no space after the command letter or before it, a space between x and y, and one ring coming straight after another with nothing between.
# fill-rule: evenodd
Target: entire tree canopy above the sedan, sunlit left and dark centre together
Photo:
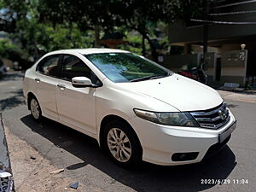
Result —
<instances>
[{"instance_id":1,"label":"entire tree canopy above the sedan, sunlit left and dark centre together","mask_svg":"<svg viewBox=\"0 0 256 192\"><path fill-rule=\"evenodd\" d=\"M168 24L200 13L202 3L202 0L0 0L0 32L9 33L11 43L20 47L28 61L54 49L92 47L97 38L111 32L138 32L141 40L128 37L131 45L133 41L143 44L143 49L145 46L154 49L150 38L154 36L152 28L159 22Z\"/></svg>"}]
</instances>

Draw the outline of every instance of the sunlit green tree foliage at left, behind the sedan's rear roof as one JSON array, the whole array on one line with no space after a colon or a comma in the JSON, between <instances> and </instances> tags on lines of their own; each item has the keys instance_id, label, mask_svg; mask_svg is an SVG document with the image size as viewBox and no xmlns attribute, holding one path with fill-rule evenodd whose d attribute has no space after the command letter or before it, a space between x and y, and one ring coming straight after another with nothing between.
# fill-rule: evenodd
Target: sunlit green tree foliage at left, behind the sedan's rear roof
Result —
<instances>
[{"instance_id":1,"label":"sunlit green tree foliage at left, behind the sedan's rear roof","mask_svg":"<svg viewBox=\"0 0 256 192\"><path fill-rule=\"evenodd\" d=\"M20 47L22 58L26 55L27 62L37 61L40 56L55 49L93 46L93 33L81 31L74 22L42 22L42 13L38 11L41 3L38 0L2 0L0 5L3 12L0 18L6 20L2 22L1 31L9 32L10 43ZM25 61L22 60L20 65L25 66Z\"/></svg>"}]
</instances>

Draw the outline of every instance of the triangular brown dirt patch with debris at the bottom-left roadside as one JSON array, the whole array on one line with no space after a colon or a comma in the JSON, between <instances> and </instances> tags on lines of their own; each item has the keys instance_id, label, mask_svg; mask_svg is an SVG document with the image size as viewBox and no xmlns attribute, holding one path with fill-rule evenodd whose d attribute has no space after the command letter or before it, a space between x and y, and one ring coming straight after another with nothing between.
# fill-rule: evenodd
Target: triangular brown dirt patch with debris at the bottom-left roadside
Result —
<instances>
[{"instance_id":1,"label":"triangular brown dirt patch with debris at the bottom-left roadside","mask_svg":"<svg viewBox=\"0 0 256 192\"><path fill-rule=\"evenodd\" d=\"M65 170L58 174L50 174L50 172L60 168L52 166L49 160L44 159L25 141L15 137L6 126L5 134L9 146L16 192L82 191L81 186L79 189L69 187L75 181L66 176Z\"/></svg>"}]
</instances>

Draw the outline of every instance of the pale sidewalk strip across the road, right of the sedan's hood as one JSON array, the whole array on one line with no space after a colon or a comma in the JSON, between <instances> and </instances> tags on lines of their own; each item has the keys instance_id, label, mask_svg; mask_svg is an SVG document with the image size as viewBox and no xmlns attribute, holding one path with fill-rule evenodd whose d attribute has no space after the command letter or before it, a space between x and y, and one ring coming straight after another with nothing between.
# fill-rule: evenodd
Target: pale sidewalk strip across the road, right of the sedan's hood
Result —
<instances>
[{"instance_id":1,"label":"pale sidewalk strip across the road, right of the sedan's hood","mask_svg":"<svg viewBox=\"0 0 256 192\"><path fill-rule=\"evenodd\" d=\"M224 99L238 102L256 103L256 90L245 90L242 92L234 92L228 90L217 90Z\"/></svg>"}]
</instances>

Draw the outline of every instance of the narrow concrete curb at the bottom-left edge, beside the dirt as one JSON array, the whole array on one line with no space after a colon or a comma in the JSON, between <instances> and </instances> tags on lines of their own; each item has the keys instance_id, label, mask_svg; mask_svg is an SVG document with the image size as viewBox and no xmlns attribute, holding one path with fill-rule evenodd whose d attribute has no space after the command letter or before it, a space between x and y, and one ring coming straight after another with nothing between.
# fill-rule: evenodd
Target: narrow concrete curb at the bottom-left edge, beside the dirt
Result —
<instances>
[{"instance_id":1,"label":"narrow concrete curb at the bottom-left edge, beside the dirt","mask_svg":"<svg viewBox=\"0 0 256 192\"><path fill-rule=\"evenodd\" d=\"M2 113L0 113L0 191L15 191L9 160L9 151L4 133Z\"/></svg>"}]
</instances>

